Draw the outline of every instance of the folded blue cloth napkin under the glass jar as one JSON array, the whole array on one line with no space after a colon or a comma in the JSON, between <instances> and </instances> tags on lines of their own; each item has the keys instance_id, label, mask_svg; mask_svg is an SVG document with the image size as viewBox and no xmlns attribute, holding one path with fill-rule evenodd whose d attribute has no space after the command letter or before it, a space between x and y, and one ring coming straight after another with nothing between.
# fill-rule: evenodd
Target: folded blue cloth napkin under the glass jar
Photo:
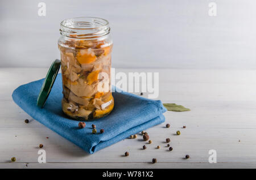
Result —
<instances>
[{"instance_id":1,"label":"folded blue cloth napkin under the glass jar","mask_svg":"<svg viewBox=\"0 0 256 180\"><path fill-rule=\"evenodd\" d=\"M91 154L165 120L163 113L166 108L161 101L116 89L119 92L113 92L115 105L112 113L95 121L85 121L85 128L79 128L79 121L68 118L61 110L61 74L57 75L44 108L36 106L43 81L20 85L13 92L14 102L36 121ZM97 134L92 134L92 124L96 125ZM103 134L100 134L101 128L105 130Z\"/></svg>"}]
</instances>

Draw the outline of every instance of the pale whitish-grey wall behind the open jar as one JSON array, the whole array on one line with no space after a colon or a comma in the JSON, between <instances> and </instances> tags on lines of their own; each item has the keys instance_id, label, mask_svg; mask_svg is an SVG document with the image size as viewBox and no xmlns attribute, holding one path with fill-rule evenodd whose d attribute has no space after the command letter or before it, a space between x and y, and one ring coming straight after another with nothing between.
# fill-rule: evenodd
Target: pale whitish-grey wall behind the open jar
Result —
<instances>
[{"instance_id":1,"label":"pale whitish-grey wall behind the open jar","mask_svg":"<svg viewBox=\"0 0 256 180\"><path fill-rule=\"evenodd\" d=\"M38 16L38 3L46 16ZM209 16L209 3L217 16ZM0 2L1 67L49 67L60 58L59 23L109 20L118 68L255 68L256 1L13 1Z\"/></svg>"}]
</instances>

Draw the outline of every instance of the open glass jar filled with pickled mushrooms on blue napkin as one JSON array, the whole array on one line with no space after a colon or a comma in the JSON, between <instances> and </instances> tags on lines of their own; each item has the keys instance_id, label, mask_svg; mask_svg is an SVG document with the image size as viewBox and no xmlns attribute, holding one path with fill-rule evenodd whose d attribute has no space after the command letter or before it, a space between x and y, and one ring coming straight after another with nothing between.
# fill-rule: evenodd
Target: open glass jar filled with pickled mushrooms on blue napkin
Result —
<instances>
[{"instance_id":1,"label":"open glass jar filled with pickled mushrooms on blue napkin","mask_svg":"<svg viewBox=\"0 0 256 180\"><path fill-rule=\"evenodd\" d=\"M91 17L66 19L60 23L60 34L63 112L79 120L104 117L114 108L109 22Z\"/></svg>"}]
</instances>

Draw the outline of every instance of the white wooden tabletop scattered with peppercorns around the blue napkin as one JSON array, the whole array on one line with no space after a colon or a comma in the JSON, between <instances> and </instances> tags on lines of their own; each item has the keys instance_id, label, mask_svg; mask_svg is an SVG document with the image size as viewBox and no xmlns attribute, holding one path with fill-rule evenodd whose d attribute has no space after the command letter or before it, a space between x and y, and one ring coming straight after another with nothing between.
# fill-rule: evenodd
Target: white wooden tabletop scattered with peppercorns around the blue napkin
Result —
<instances>
[{"instance_id":1,"label":"white wooden tabletop scattered with peppercorns around the blue napkin","mask_svg":"<svg viewBox=\"0 0 256 180\"><path fill-rule=\"evenodd\" d=\"M32 120L11 98L19 85L44 78L47 68L0 68L0 168L256 168L255 70L119 71L159 72L159 99L191 112L164 113L165 123L146 130L153 141L146 150L138 135L88 155ZM26 118L31 122L24 123ZM174 135L177 130L180 136ZM172 152L163 143L166 138ZM44 144L46 164L38 163L39 144ZM216 164L208 162L210 149L217 152ZM123 157L126 151L129 157ZM191 158L185 160L187 154ZM151 164L152 158L158 163Z\"/></svg>"}]
</instances>

